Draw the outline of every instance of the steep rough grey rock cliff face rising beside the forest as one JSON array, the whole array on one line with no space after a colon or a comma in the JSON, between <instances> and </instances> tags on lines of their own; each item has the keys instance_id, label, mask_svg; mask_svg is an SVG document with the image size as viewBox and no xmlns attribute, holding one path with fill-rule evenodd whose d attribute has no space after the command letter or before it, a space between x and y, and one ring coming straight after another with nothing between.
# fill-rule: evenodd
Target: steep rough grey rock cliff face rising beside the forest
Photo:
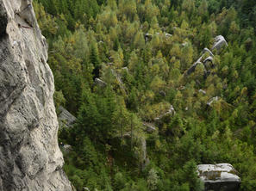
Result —
<instances>
[{"instance_id":1,"label":"steep rough grey rock cliff face rising beside the forest","mask_svg":"<svg viewBox=\"0 0 256 191\"><path fill-rule=\"evenodd\" d=\"M0 190L69 191L53 74L31 0L0 0Z\"/></svg>"}]
</instances>

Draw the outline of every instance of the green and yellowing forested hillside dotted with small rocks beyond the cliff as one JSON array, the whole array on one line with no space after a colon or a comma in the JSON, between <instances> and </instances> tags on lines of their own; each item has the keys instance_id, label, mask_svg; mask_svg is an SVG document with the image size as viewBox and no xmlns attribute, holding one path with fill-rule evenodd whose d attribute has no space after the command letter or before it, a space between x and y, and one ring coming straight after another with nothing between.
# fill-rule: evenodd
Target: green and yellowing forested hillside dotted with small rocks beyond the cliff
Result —
<instances>
[{"instance_id":1,"label":"green and yellowing forested hillside dotted with small rocks beyond the cliff","mask_svg":"<svg viewBox=\"0 0 256 191\"><path fill-rule=\"evenodd\" d=\"M202 190L201 163L231 163L240 190L256 190L255 1L34 0L34 9L55 104L78 119L59 132L78 191ZM228 44L215 47L218 35Z\"/></svg>"}]
</instances>

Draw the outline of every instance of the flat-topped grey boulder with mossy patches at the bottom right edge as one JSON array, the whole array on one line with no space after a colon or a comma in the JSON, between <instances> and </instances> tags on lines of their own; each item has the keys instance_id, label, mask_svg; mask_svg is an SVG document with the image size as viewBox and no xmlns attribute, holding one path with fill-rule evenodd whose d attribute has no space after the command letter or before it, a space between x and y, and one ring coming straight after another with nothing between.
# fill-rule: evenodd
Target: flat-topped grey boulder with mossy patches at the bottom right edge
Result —
<instances>
[{"instance_id":1,"label":"flat-topped grey boulder with mossy patches at the bottom right edge","mask_svg":"<svg viewBox=\"0 0 256 191\"><path fill-rule=\"evenodd\" d=\"M229 163L199 164L197 173L204 182L205 191L237 191L240 188L240 177Z\"/></svg>"}]
</instances>

